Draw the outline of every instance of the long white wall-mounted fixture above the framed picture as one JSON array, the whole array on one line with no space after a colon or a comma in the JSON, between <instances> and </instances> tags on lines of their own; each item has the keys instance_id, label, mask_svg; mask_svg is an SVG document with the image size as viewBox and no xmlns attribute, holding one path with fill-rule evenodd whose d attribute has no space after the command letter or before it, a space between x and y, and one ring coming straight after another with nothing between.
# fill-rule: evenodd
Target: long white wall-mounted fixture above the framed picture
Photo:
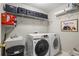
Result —
<instances>
[{"instance_id":1,"label":"long white wall-mounted fixture above the framed picture","mask_svg":"<svg viewBox=\"0 0 79 59\"><path fill-rule=\"evenodd\" d=\"M72 4L68 4L68 8L60 10L60 11L54 13L54 14L56 16L61 16L61 15L64 15L66 13L69 13L71 11L75 11L77 9L79 9L79 3L78 4L77 3L72 3Z\"/></svg>"}]
</instances>

